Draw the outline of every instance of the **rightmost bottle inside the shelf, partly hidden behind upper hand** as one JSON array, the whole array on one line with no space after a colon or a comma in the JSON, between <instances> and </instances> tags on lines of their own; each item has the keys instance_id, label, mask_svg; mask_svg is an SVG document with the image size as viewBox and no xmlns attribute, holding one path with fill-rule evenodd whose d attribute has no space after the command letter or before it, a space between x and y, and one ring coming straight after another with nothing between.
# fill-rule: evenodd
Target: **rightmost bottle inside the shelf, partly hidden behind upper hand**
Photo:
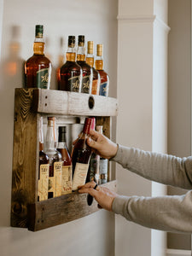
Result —
<instances>
[{"instance_id":1,"label":"rightmost bottle inside the shelf, partly hidden behind upper hand","mask_svg":"<svg viewBox=\"0 0 192 256\"><path fill-rule=\"evenodd\" d=\"M102 134L102 125L96 125L96 131ZM99 183L108 182L108 160L100 157L99 161Z\"/></svg>"}]
</instances>

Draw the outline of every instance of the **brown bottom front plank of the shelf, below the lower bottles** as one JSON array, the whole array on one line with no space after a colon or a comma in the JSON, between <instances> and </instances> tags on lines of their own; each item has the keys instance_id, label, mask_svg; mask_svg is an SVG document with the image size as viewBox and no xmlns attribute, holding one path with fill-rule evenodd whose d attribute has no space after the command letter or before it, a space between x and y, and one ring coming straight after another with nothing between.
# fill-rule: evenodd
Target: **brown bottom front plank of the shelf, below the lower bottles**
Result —
<instances>
[{"instance_id":1,"label":"brown bottom front plank of the shelf, below the lower bottles","mask_svg":"<svg viewBox=\"0 0 192 256\"><path fill-rule=\"evenodd\" d=\"M102 184L116 191L116 181ZM97 202L87 205L87 195L73 192L47 201L29 205L29 226L32 231L43 230L58 224L64 224L98 211Z\"/></svg>"}]
</instances>

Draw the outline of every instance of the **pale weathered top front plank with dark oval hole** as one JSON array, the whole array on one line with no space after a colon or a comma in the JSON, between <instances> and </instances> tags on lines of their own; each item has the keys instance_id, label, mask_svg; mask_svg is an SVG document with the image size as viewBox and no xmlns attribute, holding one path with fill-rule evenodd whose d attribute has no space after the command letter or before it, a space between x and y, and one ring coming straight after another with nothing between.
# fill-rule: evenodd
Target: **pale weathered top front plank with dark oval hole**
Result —
<instances>
[{"instance_id":1,"label":"pale weathered top front plank with dark oval hole","mask_svg":"<svg viewBox=\"0 0 192 256\"><path fill-rule=\"evenodd\" d=\"M20 89L22 90L22 89ZM85 93L34 89L33 109L38 113L116 116L117 99Z\"/></svg>"}]
</instances>

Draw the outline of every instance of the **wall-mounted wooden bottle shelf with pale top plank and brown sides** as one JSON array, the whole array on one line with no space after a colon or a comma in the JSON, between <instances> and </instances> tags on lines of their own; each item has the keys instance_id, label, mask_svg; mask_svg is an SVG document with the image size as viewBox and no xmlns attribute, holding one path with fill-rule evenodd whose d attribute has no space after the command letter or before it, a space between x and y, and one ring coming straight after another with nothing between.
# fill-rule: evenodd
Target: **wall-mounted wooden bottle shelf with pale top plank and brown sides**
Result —
<instances>
[{"instance_id":1,"label":"wall-mounted wooden bottle shelf with pale top plank and brown sides","mask_svg":"<svg viewBox=\"0 0 192 256\"><path fill-rule=\"evenodd\" d=\"M74 192L38 202L38 131L41 115L61 118L96 116L104 134L111 136L111 117L118 113L114 98L44 89L15 89L15 128L12 173L11 226L36 231L82 218L98 210L87 195ZM103 184L115 190L116 182Z\"/></svg>"}]
</instances>

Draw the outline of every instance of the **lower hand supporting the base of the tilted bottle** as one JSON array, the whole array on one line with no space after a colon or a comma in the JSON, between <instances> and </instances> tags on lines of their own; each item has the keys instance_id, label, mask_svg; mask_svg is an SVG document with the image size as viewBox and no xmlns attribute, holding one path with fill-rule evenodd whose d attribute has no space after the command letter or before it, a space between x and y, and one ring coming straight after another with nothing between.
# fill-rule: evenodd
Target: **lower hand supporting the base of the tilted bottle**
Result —
<instances>
[{"instance_id":1,"label":"lower hand supporting the base of the tilted bottle","mask_svg":"<svg viewBox=\"0 0 192 256\"><path fill-rule=\"evenodd\" d=\"M104 208L108 211L112 211L112 204L115 197L118 195L111 191L108 188L97 186L96 189L94 189L96 186L95 182L90 182L84 184L84 186L79 187L79 193L88 193L92 195L96 201L98 202L99 208Z\"/></svg>"}]
</instances>

